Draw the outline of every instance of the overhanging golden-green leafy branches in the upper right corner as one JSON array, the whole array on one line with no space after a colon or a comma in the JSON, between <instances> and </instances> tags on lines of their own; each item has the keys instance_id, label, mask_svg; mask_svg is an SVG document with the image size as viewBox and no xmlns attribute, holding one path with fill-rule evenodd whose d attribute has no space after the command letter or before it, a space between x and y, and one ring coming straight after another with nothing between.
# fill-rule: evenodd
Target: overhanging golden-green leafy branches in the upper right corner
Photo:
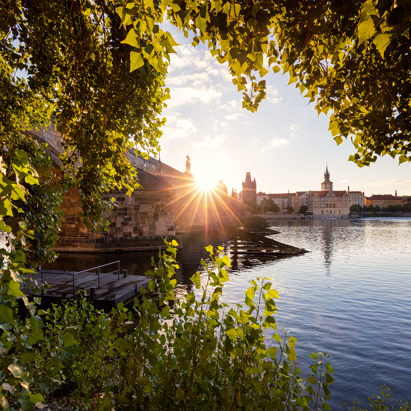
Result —
<instances>
[{"instance_id":1,"label":"overhanging golden-green leafy branches in the upper right corner","mask_svg":"<svg viewBox=\"0 0 411 411\"><path fill-rule=\"evenodd\" d=\"M217 61L228 63L243 107L255 111L266 96L259 78L282 68L319 114L331 112L334 140L352 139L352 161L369 165L376 154L411 161L408 1L164 0L161 8L193 45L207 42ZM141 9L124 6L121 18L130 27L127 39L138 45Z\"/></svg>"}]
</instances>

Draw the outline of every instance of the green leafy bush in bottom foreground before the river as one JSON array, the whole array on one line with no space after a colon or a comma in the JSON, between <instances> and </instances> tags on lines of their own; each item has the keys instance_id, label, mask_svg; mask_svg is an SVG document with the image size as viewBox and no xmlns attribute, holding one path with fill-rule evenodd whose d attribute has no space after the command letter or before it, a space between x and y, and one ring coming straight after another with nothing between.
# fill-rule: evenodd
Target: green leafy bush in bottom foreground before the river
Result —
<instances>
[{"instance_id":1,"label":"green leafy bush in bottom foreground before the river","mask_svg":"<svg viewBox=\"0 0 411 411\"><path fill-rule=\"evenodd\" d=\"M199 296L180 300L175 245L159 254L158 267L153 259L134 311L120 305L107 315L79 300L48 312L36 348L39 391L51 399L53 388L60 385L61 395L71 385L71 404L93 410L330 409L327 354L311 354L305 381L287 331L272 335L277 347L266 347L263 331L276 330L278 298L268 278L252 281L244 304L220 303L230 260L209 246L211 266L201 261L208 275L191 278Z\"/></svg>"}]
</instances>

